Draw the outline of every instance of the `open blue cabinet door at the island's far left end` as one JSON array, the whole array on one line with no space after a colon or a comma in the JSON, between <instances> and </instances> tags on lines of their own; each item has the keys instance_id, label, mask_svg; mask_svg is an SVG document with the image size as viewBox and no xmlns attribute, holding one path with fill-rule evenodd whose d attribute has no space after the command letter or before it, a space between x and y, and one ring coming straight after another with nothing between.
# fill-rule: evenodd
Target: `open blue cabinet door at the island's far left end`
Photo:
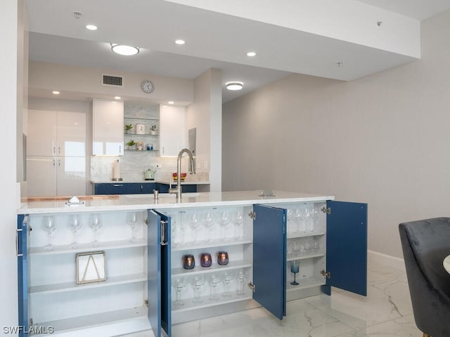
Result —
<instances>
[{"instance_id":1,"label":"open blue cabinet door at the island's far left end","mask_svg":"<svg viewBox=\"0 0 450 337\"><path fill-rule=\"evenodd\" d=\"M19 326L23 329L19 331L19 336L25 336L24 331L29 330L28 323L28 254L27 254L27 233L28 233L28 216L20 215L17 219L17 237L16 253L17 253L17 269L18 269L18 318Z\"/></svg>"}]
</instances>

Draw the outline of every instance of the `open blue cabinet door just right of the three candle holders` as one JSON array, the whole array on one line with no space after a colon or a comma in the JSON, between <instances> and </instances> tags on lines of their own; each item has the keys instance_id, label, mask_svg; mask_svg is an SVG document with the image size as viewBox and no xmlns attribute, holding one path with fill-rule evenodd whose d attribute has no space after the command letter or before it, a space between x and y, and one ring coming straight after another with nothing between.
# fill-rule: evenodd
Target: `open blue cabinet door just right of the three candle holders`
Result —
<instances>
[{"instance_id":1,"label":"open blue cabinet door just right of the three candle holders","mask_svg":"<svg viewBox=\"0 0 450 337\"><path fill-rule=\"evenodd\" d=\"M286 315L286 211L255 205L253 299L278 319Z\"/></svg>"}]
</instances>

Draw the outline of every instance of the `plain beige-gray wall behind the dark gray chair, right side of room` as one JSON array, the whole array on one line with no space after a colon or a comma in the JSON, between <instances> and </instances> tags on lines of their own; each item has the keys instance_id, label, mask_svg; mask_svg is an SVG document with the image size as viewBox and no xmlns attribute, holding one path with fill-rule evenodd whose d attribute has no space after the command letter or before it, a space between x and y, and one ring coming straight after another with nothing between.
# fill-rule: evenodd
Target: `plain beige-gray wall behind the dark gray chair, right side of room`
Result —
<instances>
[{"instance_id":1,"label":"plain beige-gray wall behind the dark gray chair, right side of room","mask_svg":"<svg viewBox=\"0 0 450 337\"><path fill-rule=\"evenodd\" d=\"M300 74L224 105L223 190L368 203L369 249L397 225L449 216L450 11L422 22L422 59L342 82Z\"/></svg>"}]
</instances>

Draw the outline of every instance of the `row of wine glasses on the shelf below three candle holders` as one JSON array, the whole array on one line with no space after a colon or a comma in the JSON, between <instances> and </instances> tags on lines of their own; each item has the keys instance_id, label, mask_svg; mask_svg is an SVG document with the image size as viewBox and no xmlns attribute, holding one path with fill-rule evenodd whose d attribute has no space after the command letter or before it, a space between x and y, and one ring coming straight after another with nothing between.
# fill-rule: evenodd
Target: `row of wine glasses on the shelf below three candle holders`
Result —
<instances>
[{"instance_id":1,"label":"row of wine glasses on the shelf below three candle holders","mask_svg":"<svg viewBox=\"0 0 450 337\"><path fill-rule=\"evenodd\" d=\"M192 277L176 277L172 279L172 286L176 291L174 303L176 305L184 305L185 300L182 300L181 293L186 289L188 284L191 284L193 288L193 303L203 303L203 300L217 301L223 298L230 298L233 293L230 291L230 284L233 279L238 281L238 289L236 290L237 296L243 296L245 279L248 277L248 270L226 270L225 272L214 272L207 275L195 275ZM219 296L218 286L223 283L223 291ZM203 286L205 284L210 285L210 295L201 297L203 292Z\"/></svg>"}]
</instances>

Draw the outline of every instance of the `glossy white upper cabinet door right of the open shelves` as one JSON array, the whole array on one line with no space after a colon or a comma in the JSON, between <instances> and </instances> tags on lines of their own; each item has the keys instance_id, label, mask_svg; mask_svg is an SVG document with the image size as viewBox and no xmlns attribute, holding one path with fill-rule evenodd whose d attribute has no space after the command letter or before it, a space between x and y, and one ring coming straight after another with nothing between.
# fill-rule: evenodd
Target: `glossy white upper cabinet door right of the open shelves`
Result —
<instances>
[{"instance_id":1,"label":"glossy white upper cabinet door right of the open shelves","mask_svg":"<svg viewBox=\"0 0 450 337\"><path fill-rule=\"evenodd\" d=\"M160 106L160 156L177 156L186 147L186 107Z\"/></svg>"}]
</instances>

